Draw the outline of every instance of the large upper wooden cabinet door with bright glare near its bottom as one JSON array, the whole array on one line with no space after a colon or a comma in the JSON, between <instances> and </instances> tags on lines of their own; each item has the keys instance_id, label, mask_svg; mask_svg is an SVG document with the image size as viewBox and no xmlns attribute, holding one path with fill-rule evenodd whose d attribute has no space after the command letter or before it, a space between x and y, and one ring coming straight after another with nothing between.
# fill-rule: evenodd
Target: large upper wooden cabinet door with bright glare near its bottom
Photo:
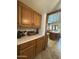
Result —
<instances>
[{"instance_id":1,"label":"large upper wooden cabinet door with bright glare near its bottom","mask_svg":"<svg viewBox=\"0 0 79 59\"><path fill-rule=\"evenodd\" d=\"M33 15L29 7L22 6L21 8L21 25L23 27L32 27Z\"/></svg>"}]
</instances>

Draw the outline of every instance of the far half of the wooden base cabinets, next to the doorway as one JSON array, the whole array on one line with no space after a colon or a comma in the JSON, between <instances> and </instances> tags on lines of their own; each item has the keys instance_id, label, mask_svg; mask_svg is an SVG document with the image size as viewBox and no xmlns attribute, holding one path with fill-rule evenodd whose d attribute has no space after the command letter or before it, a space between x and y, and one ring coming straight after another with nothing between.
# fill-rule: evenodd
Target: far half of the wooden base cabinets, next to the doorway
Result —
<instances>
[{"instance_id":1,"label":"far half of the wooden base cabinets, next to the doorway","mask_svg":"<svg viewBox=\"0 0 79 59\"><path fill-rule=\"evenodd\" d=\"M36 40L36 55L38 55L41 51L46 49L47 41L48 39L45 39L45 36L40 37Z\"/></svg>"}]
</instances>

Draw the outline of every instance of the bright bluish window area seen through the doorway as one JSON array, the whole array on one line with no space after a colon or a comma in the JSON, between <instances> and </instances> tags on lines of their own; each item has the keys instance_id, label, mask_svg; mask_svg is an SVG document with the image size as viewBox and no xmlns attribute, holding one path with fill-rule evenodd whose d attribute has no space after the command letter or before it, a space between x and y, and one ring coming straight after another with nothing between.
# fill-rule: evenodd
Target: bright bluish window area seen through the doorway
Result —
<instances>
[{"instance_id":1,"label":"bright bluish window area seen through the doorway","mask_svg":"<svg viewBox=\"0 0 79 59\"><path fill-rule=\"evenodd\" d=\"M61 12L54 12L48 14L48 30L58 31L61 27Z\"/></svg>"}]
</instances>

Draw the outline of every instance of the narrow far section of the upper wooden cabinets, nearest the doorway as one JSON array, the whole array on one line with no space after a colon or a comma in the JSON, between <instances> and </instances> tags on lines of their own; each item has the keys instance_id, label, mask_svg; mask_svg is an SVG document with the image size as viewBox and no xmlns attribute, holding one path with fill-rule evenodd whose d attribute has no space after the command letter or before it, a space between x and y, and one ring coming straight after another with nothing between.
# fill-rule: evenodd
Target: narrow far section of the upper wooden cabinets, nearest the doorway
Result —
<instances>
[{"instance_id":1,"label":"narrow far section of the upper wooden cabinets, nearest the doorway","mask_svg":"<svg viewBox=\"0 0 79 59\"><path fill-rule=\"evenodd\" d=\"M40 28L41 25L41 15L39 15L38 13L34 12L34 20L33 20L33 27L34 28Z\"/></svg>"}]
</instances>

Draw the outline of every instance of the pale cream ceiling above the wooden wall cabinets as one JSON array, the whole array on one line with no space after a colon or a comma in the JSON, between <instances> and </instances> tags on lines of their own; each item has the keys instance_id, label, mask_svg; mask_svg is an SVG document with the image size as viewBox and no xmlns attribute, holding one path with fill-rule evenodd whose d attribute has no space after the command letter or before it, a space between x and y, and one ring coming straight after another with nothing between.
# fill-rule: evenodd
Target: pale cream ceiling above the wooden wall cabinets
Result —
<instances>
[{"instance_id":1,"label":"pale cream ceiling above the wooden wall cabinets","mask_svg":"<svg viewBox=\"0 0 79 59\"><path fill-rule=\"evenodd\" d=\"M57 7L60 0L19 0L40 14L49 13Z\"/></svg>"}]
</instances>

